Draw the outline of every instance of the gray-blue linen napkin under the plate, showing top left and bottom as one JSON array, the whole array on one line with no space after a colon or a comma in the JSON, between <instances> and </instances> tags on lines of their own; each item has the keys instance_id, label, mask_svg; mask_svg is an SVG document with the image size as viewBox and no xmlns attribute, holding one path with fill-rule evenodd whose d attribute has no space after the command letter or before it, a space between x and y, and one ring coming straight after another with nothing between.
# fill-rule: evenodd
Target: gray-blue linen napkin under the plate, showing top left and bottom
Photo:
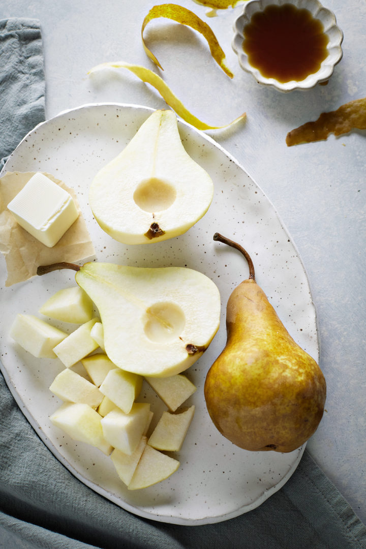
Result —
<instances>
[{"instance_id":1,"label":"gray-blue linen napkin under the plate, showing top left and bottom","mask_svg":"<svg viewBox=\"0 0 366 549\"><path fill-rule=\"evenodd\" d=\"M40 24L0 21L0 158L44 117ZM1 352L1 349L0 349ZM226 522L178 526L128 513L43 444L0 374L1 549L365 549L366 527L307 452L285 486Z\"/></svg>"}]
</instances>

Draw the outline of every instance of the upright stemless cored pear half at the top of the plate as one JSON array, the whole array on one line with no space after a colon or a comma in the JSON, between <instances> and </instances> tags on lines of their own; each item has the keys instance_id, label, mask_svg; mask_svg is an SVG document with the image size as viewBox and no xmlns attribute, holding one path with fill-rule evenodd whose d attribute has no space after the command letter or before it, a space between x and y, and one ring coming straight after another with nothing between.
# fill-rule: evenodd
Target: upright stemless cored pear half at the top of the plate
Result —
<instances>
[{"instance_id":1,"label":"upright stemless cored pear half at the top of the plate","mask_svg":"<svg viewBox=\"0 0 366 549\"><path fill-rule=\"evenodd\" d=\"M151 114L95 175L89 192L95 220L125 244L185 233L205 215L212 198L211 177L185 151L171 110Z\"/></svg>"}]
</instances>

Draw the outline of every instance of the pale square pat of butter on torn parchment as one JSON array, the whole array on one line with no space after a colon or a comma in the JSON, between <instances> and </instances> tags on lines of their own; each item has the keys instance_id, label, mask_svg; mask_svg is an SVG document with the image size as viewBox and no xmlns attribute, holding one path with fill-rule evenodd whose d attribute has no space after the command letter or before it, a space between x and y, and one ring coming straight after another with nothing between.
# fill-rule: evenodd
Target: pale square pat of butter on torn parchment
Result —
<instances>
[{"instance_id":1,"label":"pale square pat of butter on torn parchment","mask_svg":"<svg viewBox=\"0 0 366 549\"><path fill-rule=\"evenodd\" d=\"M36 173L8 204L16 221L52 248L78 217L70 194L43 173Z\"/></svg>"}]
</instances>

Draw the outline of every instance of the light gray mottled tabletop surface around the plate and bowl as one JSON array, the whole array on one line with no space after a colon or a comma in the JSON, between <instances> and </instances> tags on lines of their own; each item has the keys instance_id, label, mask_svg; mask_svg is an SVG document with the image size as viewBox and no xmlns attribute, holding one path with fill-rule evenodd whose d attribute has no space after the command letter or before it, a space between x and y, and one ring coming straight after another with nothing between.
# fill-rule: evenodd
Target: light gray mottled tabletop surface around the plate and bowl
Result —
<instances>
[{"instance_id":1,"label":"light gray mottled tabletop surface around the plate and bowl","mask_svg":"<svg viewBox=\"0 0 366 549\"><path fill-rule=\"evenodd\" d=\"M157 4L158 2L155 2ZM241 9L207 18L193 0L177 2L212 27L235 74L230 80L195 31L166 19L145 37L164 67L164 80L201 120L227 124L246 111L240 127L209 132L245 167L275 205L308 272L317 307L320 366L328 383L326 412L308 450L366 522L365 365L365 131L286 147L286 133L325 110L366 95L365 0L326 0L344 32L344 57L328 86L281 94L257 85L231 49ZM140 29L147 0L2 0L0 19L40 19L47 84L47 118L85 103L166 107L155 89L126 70L91 79L104 61L158 69L145 55Z\"/></svg>"}]
</instances>

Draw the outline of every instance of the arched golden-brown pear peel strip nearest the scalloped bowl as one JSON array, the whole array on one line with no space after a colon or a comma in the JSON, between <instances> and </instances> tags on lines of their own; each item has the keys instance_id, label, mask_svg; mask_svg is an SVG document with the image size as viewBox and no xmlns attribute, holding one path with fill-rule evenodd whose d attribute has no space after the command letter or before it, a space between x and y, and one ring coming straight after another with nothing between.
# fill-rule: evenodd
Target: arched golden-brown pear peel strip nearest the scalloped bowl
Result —
<instances>
[{"instance_id":1,"label":"arched golden-brown pear peel strip nearest the scalloped bowl","mask_svg":"<svg viewBox=\"0 0 366 549\"><path fill-rule=\"evenodd\" d=\"M226 65L226 61L225 61L226 55L224 54L223 49L218 43L215 33L213 33L211 27L207 25L205 21L202 21L202 19L200 19L198 15L191 12L189 9L183 8L183 6L177 5L177 4L155 5L153 8L150 9L149 13L145 16L145 19L143 21L142 28L141 28L141 39L142 39L142 44L143 44L145 53L148 55L148 57L152 61L154 61L155 65L157 65L161 70L164 70L164 69L162 68L159 61L156 59L155 55L147 47L144 41L145 27L147 26L149 21L159 17L172 19L173 21L176 21L176 23L181 23L182 25L190 26L195 31L200 32L201 35L206 38L207 43L209 44L209 47L210 47L211 55L213 59L215 59L216 63L230 78L234 77L232 71L230 71L230 69Z\"/></svg>"}]
</instances>

